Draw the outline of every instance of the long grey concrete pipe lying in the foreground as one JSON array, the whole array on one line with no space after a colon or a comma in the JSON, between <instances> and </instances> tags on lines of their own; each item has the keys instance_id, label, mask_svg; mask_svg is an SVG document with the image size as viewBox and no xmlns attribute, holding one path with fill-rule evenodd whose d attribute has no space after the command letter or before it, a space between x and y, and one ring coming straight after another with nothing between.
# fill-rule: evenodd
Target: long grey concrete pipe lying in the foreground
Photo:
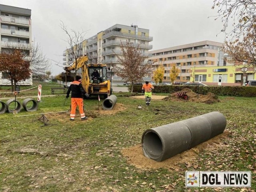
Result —
<instances>
[{"instance_id":1,"label":"long grey concrete pipe lying in the foreground","mask_svg":"<svg viewBox=\"0 0 256 192\"><path fill-rule=\"evenodd\" d=\"M146 157L160 162L213 138L225 128L224 115L210 112L144 131L142 150Z\"/></svg>"}]
</instances>

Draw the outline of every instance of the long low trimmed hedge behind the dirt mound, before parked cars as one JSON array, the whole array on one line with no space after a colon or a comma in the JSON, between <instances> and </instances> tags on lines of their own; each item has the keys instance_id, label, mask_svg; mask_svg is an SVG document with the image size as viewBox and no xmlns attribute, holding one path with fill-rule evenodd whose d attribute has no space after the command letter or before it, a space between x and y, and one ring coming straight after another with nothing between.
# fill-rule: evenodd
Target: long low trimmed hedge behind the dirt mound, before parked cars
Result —
<instances>
[{"instance_id":1,"label":"long low trimmed hedge behind the dirt mound, before parked cars","mask_svg":"<svg viewBox=\"0 0 256 192\"><path fill-rule=\"evenodd\" d=\"M131 91L131 85L128 87ZM141 92L141 85L134 85L133 92ZM242 96L256 97L256 86L187 86L187 85L163 85L154 86L154 93L173 93L189 88L197 94L207 94L211 92L218 96Z\"/></svg>"}]
</instances>

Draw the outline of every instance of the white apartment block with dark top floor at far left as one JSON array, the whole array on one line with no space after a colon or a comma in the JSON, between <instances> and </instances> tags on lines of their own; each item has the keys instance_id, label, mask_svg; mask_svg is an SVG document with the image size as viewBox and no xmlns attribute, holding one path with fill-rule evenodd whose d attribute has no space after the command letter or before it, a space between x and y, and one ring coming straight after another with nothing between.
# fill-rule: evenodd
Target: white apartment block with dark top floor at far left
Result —
<instances>
[{"instance_id":1,"label":"white apartment block with dark top floor at far left","mask_svg":"<svg viewBox=\"0 0 256 192\"><path fill-rule=\"evenodd\" d=\"M29 51L32 42L31 10L0 4L0 51L22 48ZM8 74L0 72L0 85L9 85ZM22 82L32 85L32 78Z\"/></svg>"}]
</instances>

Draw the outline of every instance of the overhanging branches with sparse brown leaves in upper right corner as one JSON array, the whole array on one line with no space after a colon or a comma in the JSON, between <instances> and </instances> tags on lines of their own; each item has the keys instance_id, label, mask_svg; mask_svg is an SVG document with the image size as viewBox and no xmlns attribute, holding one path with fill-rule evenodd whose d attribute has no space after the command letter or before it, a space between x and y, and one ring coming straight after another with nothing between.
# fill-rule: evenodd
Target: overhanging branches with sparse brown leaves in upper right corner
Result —
<instances>
[{"instance_id":1,"label":"overhanging branches with sparse brown leaves in upper right corner","mask_svg":"<svg viewBox=\"0 0 256 192\"><path fill-rule=\"evenodd\" d=\"M256 3L254 0L214 0L212 9L218 9L226 35L224 51L231 62L242 62L246 67L256 66ZM229 30L228 26L232 26Z\"/></svg>"}]
</instances>

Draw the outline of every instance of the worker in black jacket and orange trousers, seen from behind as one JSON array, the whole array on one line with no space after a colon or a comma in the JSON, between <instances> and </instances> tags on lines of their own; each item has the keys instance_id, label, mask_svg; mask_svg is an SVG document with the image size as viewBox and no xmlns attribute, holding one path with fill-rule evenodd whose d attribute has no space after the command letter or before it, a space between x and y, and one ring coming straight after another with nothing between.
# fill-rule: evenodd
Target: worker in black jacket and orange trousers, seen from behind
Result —
<instances>
[{"instance_id":1,"label":"worker in black jacket and orange trousers, seen from behind","mask_svg":"<svg viewBox=\"0 0 256 192\"><path fill-rule=\"evenodd\" d=\"M80 76L76 76L76 80L70 83L68 87L66 98L69 97L71 91L71 112L70 112L70 120L74 120L76 116L76 106L79 108L79 112L81 115L81 120L86 120L88 117L84 114L84 100L83 98L86 95L86 92L82 86L82 78Z\"/></svg>"}]
</instances>

